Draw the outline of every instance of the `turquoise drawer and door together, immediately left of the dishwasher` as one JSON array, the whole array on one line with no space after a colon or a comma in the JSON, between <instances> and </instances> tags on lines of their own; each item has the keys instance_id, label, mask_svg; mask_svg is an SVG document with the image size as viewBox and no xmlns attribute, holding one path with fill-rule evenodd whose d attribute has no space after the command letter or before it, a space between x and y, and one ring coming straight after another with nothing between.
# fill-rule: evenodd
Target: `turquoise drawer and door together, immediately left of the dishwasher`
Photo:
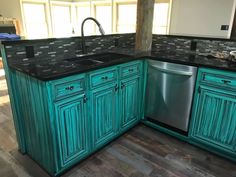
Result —
<instances>
[{"instance_id":1,"label":"turquoise drawer and door together, immediately left of the dishwasher","mask_svg":"<svg viewBox=\"0 0 236 177\"><path fill-rule=\"evenodd\" d=\"M143 99L143 62L123 64L120 68L120 131L126 131L141 119Z\"/></svg>"}]
</instances>

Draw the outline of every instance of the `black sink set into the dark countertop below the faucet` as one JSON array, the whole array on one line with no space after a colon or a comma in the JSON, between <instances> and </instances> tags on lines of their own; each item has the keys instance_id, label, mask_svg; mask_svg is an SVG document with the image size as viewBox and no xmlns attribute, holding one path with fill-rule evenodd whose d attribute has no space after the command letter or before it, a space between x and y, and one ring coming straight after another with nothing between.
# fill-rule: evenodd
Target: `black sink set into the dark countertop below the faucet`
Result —
<instances>
[{"instance_id":1,"label":"black sink set into the dark countertop below the faucet","mask_svg":"<svg viewBox=\"0 0 236 177\"><path fill-rule=\"evenodd\" d=\"M85 55L77 58L66 59L67 61L74 62L79 65L91 66L111 62L113 60L119 60L122 58L130 57L129 55L118 53L100 53L93 55Z\"/></svg>"}]
</instances>

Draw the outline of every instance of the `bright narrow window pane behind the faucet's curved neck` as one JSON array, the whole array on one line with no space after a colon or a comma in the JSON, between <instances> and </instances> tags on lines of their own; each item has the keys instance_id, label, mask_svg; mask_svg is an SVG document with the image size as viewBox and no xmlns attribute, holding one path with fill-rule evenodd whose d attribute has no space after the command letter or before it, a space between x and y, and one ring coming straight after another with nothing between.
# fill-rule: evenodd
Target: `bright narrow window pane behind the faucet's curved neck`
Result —
<instances>
[{"instance_id":1,"label":"bright narrow window pane behind the faucet's curved neck","mask_svg":"<svg viewBox=\"0 0 236 177\"><path fill-rule=\"evenodd\" d=\"M81 35L81 24L83 20L87 17L90 17L90 7L89 6L77 6L77 26L75 27L75 32ZM85 35L90 35L93 33L92 22L87 21L84 24L84 33Z\"/></svg>"}]
</instances>

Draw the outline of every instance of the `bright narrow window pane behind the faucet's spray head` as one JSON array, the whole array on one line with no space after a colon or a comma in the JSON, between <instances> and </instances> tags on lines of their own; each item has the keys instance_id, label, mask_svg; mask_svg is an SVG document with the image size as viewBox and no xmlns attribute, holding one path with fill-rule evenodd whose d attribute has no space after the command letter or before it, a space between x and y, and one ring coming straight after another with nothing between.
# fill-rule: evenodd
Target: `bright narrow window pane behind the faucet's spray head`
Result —
<instances>
[{"instance_id":1,"label":"bright narrow window pane behind the faucet's spray head","mask_svg":"<svg viewBox=\"0 0 236 177\"><path fill-rule=\"evenodd\" d=\"M96 6L96 19L102 25L106 34L112 33L112 11L111 5ZM96 34L100 34L98 28L96 28Z\"/></svg>"}]
</instances>

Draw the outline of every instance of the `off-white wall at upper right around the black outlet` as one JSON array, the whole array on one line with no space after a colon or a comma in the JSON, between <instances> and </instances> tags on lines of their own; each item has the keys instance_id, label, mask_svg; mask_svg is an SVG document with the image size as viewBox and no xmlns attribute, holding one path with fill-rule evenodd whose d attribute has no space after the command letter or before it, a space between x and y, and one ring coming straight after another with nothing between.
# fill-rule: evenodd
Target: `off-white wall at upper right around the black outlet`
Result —
<instances>
[{"instance_id":1,"label":"off-white wall at upper right around the black outlet","mask_svg":"<svg viewBox=\"0 0 236 177\"><path fill-rule=\"evenodd\" d=\"M227 38L234 0L172 0L170 34Z\"/></svg>"}]
</instances>

